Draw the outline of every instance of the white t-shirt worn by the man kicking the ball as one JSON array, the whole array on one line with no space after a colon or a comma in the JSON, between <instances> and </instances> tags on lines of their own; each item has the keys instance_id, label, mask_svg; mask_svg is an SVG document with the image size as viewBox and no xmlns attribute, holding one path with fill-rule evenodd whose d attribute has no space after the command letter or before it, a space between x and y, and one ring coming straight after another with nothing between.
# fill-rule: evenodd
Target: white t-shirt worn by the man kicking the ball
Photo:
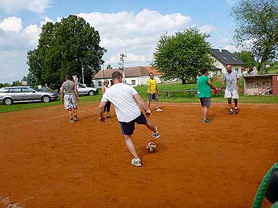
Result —
<instances>
[{"instance_id":1,"label":"white t-shirt worn by the man kicking the ball","mask_svg":"<svg viewBox=\"0 0 278 208\"><path fill-rule=\"evenodd\" d=\"M115 107L117 119L121 122L129 122L141 114L141 110L133 98L136 94L138 92L130 85L117 83L106 90L101 101L111 101Z\"/></svg>"}]
</instances>

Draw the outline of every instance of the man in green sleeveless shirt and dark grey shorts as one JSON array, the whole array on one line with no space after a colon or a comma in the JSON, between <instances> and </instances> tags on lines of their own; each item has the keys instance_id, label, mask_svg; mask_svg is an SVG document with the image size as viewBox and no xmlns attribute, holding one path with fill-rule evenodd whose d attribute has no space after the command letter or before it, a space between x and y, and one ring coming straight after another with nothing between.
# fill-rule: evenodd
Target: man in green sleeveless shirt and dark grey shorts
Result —
<instances>
[{"instance_id":1,"label":"man in green sleeveless shirt and dark grey shorts","mask_svg":"<svg viewBox=\"0 0 278 208\"><path fill-rule=\"evenodd\" d=\"M211 83L211 79L208 78L208 69L200 69L202 76L199 77L198 87L198 98L202 105L202 123L211 123L211 119L208 118L208 107L211 106L211 89L218 91L216 87Z\"/></svg>"}]
</instances>

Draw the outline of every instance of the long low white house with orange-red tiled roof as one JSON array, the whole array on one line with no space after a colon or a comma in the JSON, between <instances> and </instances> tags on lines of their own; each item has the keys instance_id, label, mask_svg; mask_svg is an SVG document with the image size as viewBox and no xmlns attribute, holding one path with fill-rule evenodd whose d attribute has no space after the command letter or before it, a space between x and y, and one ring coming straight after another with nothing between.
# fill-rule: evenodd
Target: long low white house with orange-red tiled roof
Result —
<instances>
[{"instance_id":1,"label":"long low white house with orange-red tiled roof","mask_svg":"<svg viewBox=\"0 0 278 208\"><path fill-rule=\"evenodd\" d=\"M114 71L120 71L120 73L123 73L122 69L102 69L97 72L92 78L95 87L101 88L104 85L104 80L112 80L112 73ZM156 83L162 83L162 73L154 67L125 67L124 76L126 84L132 86L147 85L150 72L154 73Z\"/></svg>"}]
</instances>

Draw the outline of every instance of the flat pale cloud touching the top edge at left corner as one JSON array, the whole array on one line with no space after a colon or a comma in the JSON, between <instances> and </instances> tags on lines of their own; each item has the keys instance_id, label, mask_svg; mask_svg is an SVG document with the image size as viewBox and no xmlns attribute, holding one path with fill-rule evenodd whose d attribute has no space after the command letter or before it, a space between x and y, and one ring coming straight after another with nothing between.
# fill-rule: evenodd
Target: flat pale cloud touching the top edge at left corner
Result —
<instances>
[{"instance_id":1,"label":"flat pale cloud touching the top edge at left corner","mask_svg":"<svg viewBox=\"0 0 278 208\"><path fill-rule=\"evenodd\" d=\"M51 6L51 0L0 0L0 10L15 14L22 10L42 13Z\"/></svg>"}]
</instances>

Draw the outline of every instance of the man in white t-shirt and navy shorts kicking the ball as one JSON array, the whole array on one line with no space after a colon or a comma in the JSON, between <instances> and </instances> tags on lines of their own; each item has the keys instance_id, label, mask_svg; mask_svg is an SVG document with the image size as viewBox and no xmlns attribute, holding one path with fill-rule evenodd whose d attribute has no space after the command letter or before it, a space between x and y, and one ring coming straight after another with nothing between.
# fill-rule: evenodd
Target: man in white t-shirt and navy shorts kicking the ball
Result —
<instances>
[{"instance_id":1,"label":"man in white t-shirt and navy shorts kicking the ball","mask_svg":"<svg viewBox=\"0 0 278 208\"><path fill-rule=\"evenodd\" d=\"M142 162L138 157L136 148L131 140L131 135L133 135L133 130L135 129L135 123L146 125L147 128L153 131L152 137L155 137L156 139L161 137L161 135L158 133L158 127L146 119L145 115L136 104L136 101L138 101L138 104L145 110L148 117L152 115L141 96L136 92L136 89L130 85L122 83L122 74L119 71L112 73L112 78L114 85L106 90L99 103L99 121L104 123L104 106L110 101L115 107L117 119L120 122L122 134L126 141L126 146L134 157L131 159L131 164L140 167L142 166Z\"/></svg>"}]
</instances>

